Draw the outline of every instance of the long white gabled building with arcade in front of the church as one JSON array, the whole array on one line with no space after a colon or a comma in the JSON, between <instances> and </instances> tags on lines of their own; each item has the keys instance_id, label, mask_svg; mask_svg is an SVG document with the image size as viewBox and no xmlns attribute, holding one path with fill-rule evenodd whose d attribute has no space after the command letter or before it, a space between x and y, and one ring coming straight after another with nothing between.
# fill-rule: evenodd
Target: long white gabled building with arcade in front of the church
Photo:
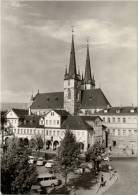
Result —
<instances>
[{"instance_id":1,"label":"long white gabled building with arcade in front of the church","mask_svg":"<svg viewBox=\"0 0 138 195\"><path fill-rule=\"evenodd\" d=\"M51 110L44 116L28 116L13 128L19 138L34 138L41 135L47 146L56 148L64 138L66 129L70 129L86 151L96 140L105 141L105 128L99 116L72 116L65 110Z\"/></svg>"}]
</instances>

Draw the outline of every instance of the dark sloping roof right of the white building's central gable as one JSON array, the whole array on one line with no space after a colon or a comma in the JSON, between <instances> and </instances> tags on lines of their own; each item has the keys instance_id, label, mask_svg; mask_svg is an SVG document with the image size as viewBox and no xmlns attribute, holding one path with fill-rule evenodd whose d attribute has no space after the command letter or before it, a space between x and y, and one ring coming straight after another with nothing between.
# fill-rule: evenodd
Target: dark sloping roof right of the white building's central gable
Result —
<instances>
[{"instance_id":1,"label":"dark sloping roof right of the white building's central gable","mask_svg":"<svg viewBox=\"0 0 138 195\"><path fill-rule=\"evenodd\" d=\"M73 130L92 130L93 127L87 122L95 120L96 116L68 116L68 118L62 123L62 129L73 129Z\"/></svg>"}]
</instances>

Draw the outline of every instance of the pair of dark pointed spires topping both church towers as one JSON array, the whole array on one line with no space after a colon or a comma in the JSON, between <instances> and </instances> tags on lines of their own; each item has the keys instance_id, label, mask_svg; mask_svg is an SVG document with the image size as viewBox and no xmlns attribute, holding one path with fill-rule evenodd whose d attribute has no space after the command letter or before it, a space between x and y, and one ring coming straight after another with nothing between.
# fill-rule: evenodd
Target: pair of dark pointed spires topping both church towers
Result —
<instances>
[{"instance_id":1,"label":"pair of dark pointed spires topping both church towers","mask_svg":"<svg viewBox=\"0 0 138 195\"><path fill-rule=\"evenodd\" d=\"M76 69L76 57L75 57L75 46L74 46L74 35L72 31L72 42L71 42L71 52L70 52L70 62L69 62L69 71L67 67L65 70L65 79L75 79L80 78L80 72ZM87 41L87 55L86 55L86 66L85 66L85 75L82 76L83 84L91 84L95 87L94 75L91 74L91 64L90 64L90 55L89 55L89 44Z\"/></svg>"}]
</instances>

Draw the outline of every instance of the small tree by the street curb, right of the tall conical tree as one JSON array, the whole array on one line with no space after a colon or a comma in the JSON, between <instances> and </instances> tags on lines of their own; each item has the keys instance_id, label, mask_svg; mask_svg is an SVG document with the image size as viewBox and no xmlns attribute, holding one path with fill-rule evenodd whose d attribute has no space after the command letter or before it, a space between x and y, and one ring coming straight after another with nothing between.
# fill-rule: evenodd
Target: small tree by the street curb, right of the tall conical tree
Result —
<instances>
[{"instance_id":1,"label":"small tree by the street curb, right of the tall conical tree","mask_svg":"<svg viewBox=\"0 0 138 195\"><path fill-rule=\"evenodd\" d=\"M97 141L92 147L86 152L86 158L94 164L94 170L99 171L99 164L102 160L102 154L105 152L104 144Z\"/></svg>"}]
</instances>

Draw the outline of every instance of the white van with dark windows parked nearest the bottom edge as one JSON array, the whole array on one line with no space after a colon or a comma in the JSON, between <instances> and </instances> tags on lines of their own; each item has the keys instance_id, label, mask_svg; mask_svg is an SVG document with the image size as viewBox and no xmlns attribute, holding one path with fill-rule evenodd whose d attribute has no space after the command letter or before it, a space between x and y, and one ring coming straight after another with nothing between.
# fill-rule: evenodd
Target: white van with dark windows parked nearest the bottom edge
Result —
<instances>
[{"instance_id":1,"label":"white van with dark windows parked nearest the bottom edge","mask_svg":"<svg viewBox=\"0 0 138 195\"><path fill-rule=\"evenodd\" d=\"M38 182L43 187L48 187L48 186L54 187L61 184L61 180L57 179L55 175L49 173L39 174Z\"/></svg>"}]
</instances>

